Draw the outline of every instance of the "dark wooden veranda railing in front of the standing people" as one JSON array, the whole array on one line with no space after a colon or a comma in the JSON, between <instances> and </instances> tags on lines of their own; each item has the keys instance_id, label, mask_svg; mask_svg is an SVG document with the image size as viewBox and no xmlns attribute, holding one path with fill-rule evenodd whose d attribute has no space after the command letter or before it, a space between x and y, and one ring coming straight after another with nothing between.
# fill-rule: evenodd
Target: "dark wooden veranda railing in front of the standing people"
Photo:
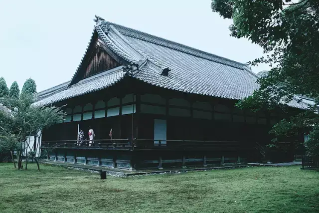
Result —
<instances>
[{"instance_id":1,"label":"dark wooden veranda railing in front of the standing people","mask_svg":"<svg viewBox=\"0 0 319 213\"><path fill-rule=\"evenodd\" d=\"M41 148L131 149L129 139L42 141Z\"/></svg>"}]
</instances>

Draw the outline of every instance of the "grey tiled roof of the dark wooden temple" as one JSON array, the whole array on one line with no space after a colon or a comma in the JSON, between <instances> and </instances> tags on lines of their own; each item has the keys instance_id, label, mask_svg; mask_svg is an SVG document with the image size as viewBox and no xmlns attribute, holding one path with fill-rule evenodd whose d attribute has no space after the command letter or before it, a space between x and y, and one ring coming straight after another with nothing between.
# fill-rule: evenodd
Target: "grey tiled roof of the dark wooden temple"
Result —
<instances>
[{"instance_id":1,"label":"grey tiled roof of the dark wooden temple","mask_svg":"<svg viewBox=\"0 0 319 213\"><path fill-rule=\"evenodd\" d=\"M236 100L249 96L259 88L256 83L258 77L246 64L107 22L101 18L97 19L94 33L97 33L110 51L126 62L124 65L131 64L134 67L132 77L152 85ZM170 69L168 76L161 75L164 68ZM78 71L79 69L74 76ZM55 93L36 104L45 105L97 91L122 78L123 72L106 71L69 85L64 91ZM290 105L301 107L296 100Z\"/></svg>"}]
</instances>

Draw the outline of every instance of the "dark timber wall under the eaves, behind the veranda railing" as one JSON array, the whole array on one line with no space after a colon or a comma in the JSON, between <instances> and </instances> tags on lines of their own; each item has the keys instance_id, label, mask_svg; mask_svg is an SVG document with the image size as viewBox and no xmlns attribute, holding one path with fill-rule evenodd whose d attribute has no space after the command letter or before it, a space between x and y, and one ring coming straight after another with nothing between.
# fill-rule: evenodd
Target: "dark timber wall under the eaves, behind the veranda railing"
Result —
<instances>
[{"instance_id":1,"label":"dark timber wall under the eaves, behind the veranda railing","mask_svg":"<svg viewBox=\"0 0 319 213\"><path fill-rule=\"evenodd\" d=\"M246 141L251 143L268 144L272 136L268 134L271 129L270 120L280 120L284 115L277 112L277 117L272 117L270 112L264 113L266 115L267 124L259 124L258 116L251 113L244 112L245 118L253 117L256 122L249 124L247 122L235 122L233 117L230 121L215 120L214 116L211 119L193 118L192 115L188 117L170 116L168 112L168 101L171 98L182 98L190 103L195 101L202 101L211 104L212 115L215 113L214 105L223 104L230 108L232 116L236 115L234 105L236 101L220 99L207 96L199 96L192 94L184 94L177 91L162 89L155 86L150 86L142 83L136 79L126 78L117 83L111 88L101 90L95 93L76 97L71 100L59 103L59 105L67 104L72 107L78 104L91 102L93 105L98 100L109 100L111 97L118 96L122 98L125 94L134 93L137 95L136 113L133 115L134 125L132 127L132 114L104 117L98 119L90 119L85 121L76 121L63 124L56 124L49 130L43 133L43 140L76 140L77 124L87 133L88 126L91 125L95 131L96 139L109 139L110 129L113 128L114 139L154 139L154 119L165 119L167 121L167 140L222 140L222 141ZM166 103L159 105L166 108L166 113L148 114L141 113L141 96L146 93L159 94L160 97L166 100ZM130 103L127 103L130 104ZM156 104L154 104L156 105ZM182 109L182 107L180 107ZM192 105L190 111L192 112ZM217 112L223 114L224 112ZM278 114L279 113L279 114ZM192 113L191 113L192 114ZM252 118L252 117L250 117ZM72 132L72 133L71 133Z\"/></svg>"}]
</instances>

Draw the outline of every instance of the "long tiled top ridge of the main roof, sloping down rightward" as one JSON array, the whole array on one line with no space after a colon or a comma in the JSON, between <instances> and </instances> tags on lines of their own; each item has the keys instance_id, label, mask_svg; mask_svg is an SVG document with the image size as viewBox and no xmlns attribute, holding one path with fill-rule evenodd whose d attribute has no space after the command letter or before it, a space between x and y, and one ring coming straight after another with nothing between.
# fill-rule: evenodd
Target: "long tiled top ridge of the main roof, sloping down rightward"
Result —
<instances>
[{"instance_id":1,"label":"long tiled top ridge of the main roof, sloping down rightward","mask_svg":"<svg viewBox=\"0 0 319 213\"><path fill-rule=\"evenodd\" d=\"M244 64L244 63L240 63L240 62L237 62L237 61L234 61L234 60L222 57L222 56L218 56L218 55L215 55L215 54L212 54L209 52L205 52L203 50L196 49L194 47L190 47L190 46L187 46L187 45L184 45L181 43L177 43L175 41L171 41L171 40L168 40L168 39L156 36L156 35L152 35L152 34L137 30L137 29L126 27L126 26L123 26L123 25L120 25L117 23L105 21L104 24L115 26L121 33L123 33L125 35L135 37L138 39L142 39L142 40L146 40L148 42L156 43L158 45L165 46L165 47L175 49L178 51L182 51L182 52L185 52L188 54L192 54L192 55L195 55L197 57L202 57L202 58L205 58L205 59L208 59L211 61L226 64L226 65L233 66L233 67L240 68L240 69L243 69L243 67L246 66L246 64Z\"/></svg>"}]
</instances>

